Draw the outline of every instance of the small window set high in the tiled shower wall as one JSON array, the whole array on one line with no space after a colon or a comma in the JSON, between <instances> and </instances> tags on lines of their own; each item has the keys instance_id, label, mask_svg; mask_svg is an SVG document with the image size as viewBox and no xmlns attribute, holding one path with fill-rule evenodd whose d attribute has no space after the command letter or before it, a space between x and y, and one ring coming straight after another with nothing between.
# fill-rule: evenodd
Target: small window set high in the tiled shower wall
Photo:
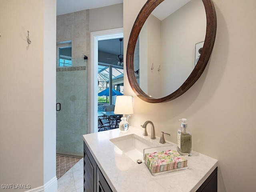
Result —
<instances>
[{"instance_id":1,"label":"small window set high in the tiled shower wall","mask_svg":"<svg viewBox=\"0 0 256 192\"><path fill-rule=\"evenodd\" d=\"M72 47L71 41L57 43L57 66L72 66Z\"/></svg>"}]
</instances>

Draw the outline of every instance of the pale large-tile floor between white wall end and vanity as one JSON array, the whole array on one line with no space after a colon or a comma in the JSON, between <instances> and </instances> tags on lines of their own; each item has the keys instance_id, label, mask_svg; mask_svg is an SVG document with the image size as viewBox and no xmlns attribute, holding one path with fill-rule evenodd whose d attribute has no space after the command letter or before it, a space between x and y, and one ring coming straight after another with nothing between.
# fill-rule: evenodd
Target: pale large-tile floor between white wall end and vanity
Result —
<instances>
[{"instance_id":1,"label":"pale large-tile floor between white wall end and vanity","mask_svg":"<svg viewBox=\"0 0 256 192\"><path fill-rule=\"evenodd\" d=\"M84 192L84 158L58 179L56 192Z\"/></svg>"}]
</instances>

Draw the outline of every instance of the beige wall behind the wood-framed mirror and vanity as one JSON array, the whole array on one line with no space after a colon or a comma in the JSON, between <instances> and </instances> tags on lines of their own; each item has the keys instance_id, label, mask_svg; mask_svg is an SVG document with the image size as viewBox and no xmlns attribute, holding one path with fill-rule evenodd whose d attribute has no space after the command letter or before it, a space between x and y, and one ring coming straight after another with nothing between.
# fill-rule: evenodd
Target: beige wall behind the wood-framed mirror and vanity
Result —
<instances>
[{"instance_id":1,"label":"beige wall behind the wood-framed mirror and vanity","mask_svg":"<svg viewBox=\"0 0 256 192\"><path fill-rule=\"evenodd\" d=\"M217 34L213 52L200 79L182 96L166 103L140 100L124 76L125 94L134 96L130 125L152 120L156 135L170 133L177 142L178 119L187 118L192 150L216 158L218 192L256 188L256 2L213 0ZM124 0L124 56L132 25L146 0ZM150 131L149 131L150 132Z\"/></svg>"}]
</instances>

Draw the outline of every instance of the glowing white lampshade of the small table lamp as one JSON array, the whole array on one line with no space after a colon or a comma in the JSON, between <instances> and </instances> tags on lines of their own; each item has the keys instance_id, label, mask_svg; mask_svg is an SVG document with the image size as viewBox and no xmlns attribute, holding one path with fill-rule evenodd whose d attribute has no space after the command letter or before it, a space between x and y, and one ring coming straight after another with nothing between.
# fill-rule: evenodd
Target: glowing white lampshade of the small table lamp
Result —
<instances>
[{"instance_id":1,"label":"glowing white lampshade of the small table lamp","mask_svg":"<svg viewBox=\"0 0 256 192\"><path fill-rule=\"evenodd\" d=\"M114 114L133 114L132 96L116 96Z\"/></svg>"}]
</instances>

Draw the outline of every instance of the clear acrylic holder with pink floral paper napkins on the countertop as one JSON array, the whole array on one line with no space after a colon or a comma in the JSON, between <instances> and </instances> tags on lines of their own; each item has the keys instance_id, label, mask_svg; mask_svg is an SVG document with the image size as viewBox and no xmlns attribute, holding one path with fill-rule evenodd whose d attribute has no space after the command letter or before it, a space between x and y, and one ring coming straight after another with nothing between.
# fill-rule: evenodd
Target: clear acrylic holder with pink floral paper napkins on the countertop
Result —
<instances>
[{"instance_id":1,"label":"clear acrylic holder with pink floral paper napkins on the countertop","mask_svg":"<svg viewBox=\"0 0 256 192\"><path fill-rule=\"evenodd\" d=\"M180 155L174 146L146 148L143 157L153 176L188 169L188 156Z\"/></svg>"}]
</instances>

